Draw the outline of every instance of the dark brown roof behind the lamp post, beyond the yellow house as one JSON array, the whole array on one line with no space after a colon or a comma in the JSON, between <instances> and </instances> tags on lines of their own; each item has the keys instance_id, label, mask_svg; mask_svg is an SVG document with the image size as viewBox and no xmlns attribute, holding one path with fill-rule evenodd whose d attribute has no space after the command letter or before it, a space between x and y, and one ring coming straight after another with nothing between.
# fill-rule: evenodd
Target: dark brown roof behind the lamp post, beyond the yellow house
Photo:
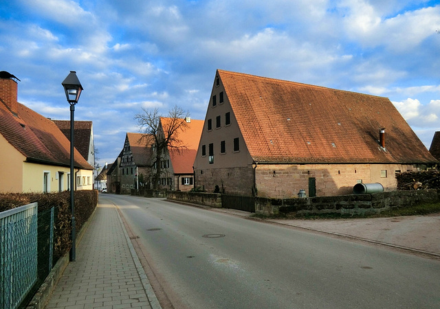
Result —
<instances>
[{"instance_id":1,"label":"dark brown roof behind the lamp post, beyond the yellow house","mask_svg":"<svg viewBox=\"0 0 440 309\"><path fill-rule=\"evenodd\" d=\"M61 132L70 141L70 120L52 120ZM89 160L90 153L90 139L91 139L92 122L90 121L75 121L74 122L74 144L75 148L80 154Z\"/></svg>"}]
</instances>

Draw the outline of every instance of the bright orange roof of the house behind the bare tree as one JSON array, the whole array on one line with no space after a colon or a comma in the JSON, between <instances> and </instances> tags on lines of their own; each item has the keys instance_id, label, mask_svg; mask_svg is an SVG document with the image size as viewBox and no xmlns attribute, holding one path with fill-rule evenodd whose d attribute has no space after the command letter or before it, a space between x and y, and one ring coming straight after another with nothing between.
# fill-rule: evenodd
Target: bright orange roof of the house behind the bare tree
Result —
<instances>
[{"instance_id":1,"label":"bright orange roof of the house behind the bare tree","mask_svg":"<svg viewBox=\"0 0 440 309\"><path fill-rule=\"evenodd\" d=\"M171 118L161 117L160 121L162 126L166 126ZM192 174L192 165L194 165L203 130L203 120L190 119L190 122L186 122L186 119L179 119L179 121L185 122L185 125L177 131L175 137L179 140L177 146L184 146L184 148L179 151L169 149L168 152L175 174Z\"/></svg>"}]
</instances>

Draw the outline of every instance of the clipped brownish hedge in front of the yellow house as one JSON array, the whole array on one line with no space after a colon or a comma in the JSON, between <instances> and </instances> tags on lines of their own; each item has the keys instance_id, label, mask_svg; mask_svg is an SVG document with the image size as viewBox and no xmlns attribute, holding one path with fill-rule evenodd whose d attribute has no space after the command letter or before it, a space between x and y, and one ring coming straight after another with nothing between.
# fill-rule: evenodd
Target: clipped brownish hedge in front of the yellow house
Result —
<instances>
[{"instance_id":1,"label":"clipped brownish hedge in front of the yellow house","mask_svg":"<svg viewBox=\"0 0 440 309\"><path fill-rule=\"evenodd\" d=\"M39 212L55 208L56 220L54 226L54 258L60 258L69 252L72 247L70 208L70 192L60 193L6 193L0 194L0 211L15 207L39 204ZM76 230L79 231L87 222L98 205L98 191L75 191L75 219Z\"/></svg>"}]
</instances>

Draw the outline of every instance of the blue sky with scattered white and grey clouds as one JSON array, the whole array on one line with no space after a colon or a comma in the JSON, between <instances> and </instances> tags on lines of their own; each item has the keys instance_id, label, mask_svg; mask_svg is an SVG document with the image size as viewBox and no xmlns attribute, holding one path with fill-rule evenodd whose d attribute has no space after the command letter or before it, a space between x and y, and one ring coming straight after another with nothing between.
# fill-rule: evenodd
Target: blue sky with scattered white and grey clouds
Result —
<instances>
[{"instance_id":1,"label":"blue sky with scattered white and grey clouds","mask_svg":"<svg viewBox=\"0 0 440 309\"><path fill-rule=\"evenodd\" d=\"M69 119L61 82L76 71L101 166L142 108L205 119L217 69L387 97L429 149L440 1L0 0L0 71L52 119Z\"/></svg>"}]
</instances>

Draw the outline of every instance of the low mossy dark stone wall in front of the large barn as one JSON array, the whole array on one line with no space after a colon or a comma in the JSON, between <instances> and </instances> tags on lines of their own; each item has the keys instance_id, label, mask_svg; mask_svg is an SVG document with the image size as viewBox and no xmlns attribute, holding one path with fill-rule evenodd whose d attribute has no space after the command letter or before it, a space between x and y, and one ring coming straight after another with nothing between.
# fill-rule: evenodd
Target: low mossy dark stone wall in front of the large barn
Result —
<instances>
[{"instance_id":1,"label":"low mossy dark stone wall in front of the large barn","mask_svg":"<svg viewBox=\"0 0 440 309\"><path fill-rule=\"evenodd\" d=\"M410 207L419 203L437 203L437 190L380 192L313 198L256 198L256 214L371 214L392 207Z\"/></svg>"}]
</instances>

